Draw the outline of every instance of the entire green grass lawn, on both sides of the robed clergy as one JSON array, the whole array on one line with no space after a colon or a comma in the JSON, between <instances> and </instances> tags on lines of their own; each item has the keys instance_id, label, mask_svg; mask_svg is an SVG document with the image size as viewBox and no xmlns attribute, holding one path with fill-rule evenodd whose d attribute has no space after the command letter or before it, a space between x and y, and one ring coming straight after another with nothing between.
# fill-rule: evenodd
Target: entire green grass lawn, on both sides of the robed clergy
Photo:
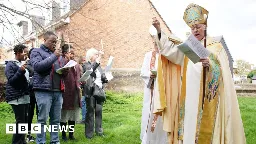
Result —
<instances>
[{"instance_id":1,"label":"entire green grass lawn, on both sides of the robed clergy","mask_svg":"<svg viewBox=\"0 0 256 144\"><path fill-rule=\"evenodd\" d=\"M244 122L247 144L256 143L256 98L239 98L242 119ZM140 119L142 94L107 93L107 102L103 107L103 128L105 137L95 136L87 140L84 136L84 125L77 124L75 137L78 141L67 144L140 144ZM0 104L0 144L10 144L12 135L5 134L5 124L14 123L11 107ZM34 119L34 123L36 119ZM60 135L61 136L61 135ZM47 142L49 143L49 133ZM63 143L61 141L61 143Z\"/></svg>"}]
</instances>

